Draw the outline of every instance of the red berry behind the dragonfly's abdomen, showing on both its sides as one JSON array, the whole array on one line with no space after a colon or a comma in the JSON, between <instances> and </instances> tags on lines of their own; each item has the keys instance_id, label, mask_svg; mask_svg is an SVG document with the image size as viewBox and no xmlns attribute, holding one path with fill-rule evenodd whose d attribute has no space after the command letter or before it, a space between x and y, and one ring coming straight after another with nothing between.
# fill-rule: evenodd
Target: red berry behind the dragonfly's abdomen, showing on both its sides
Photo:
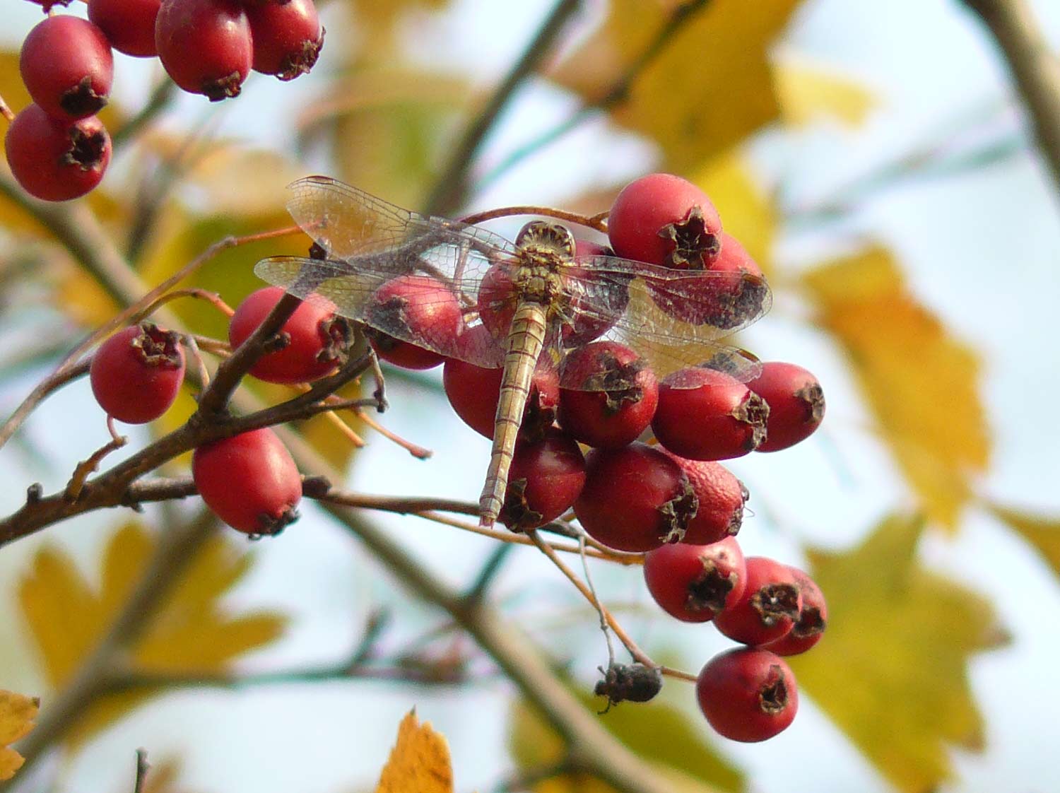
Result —
<instances>
[{"instance_id":1,"label":"red berry behind the dragonfly's abdomen, showing on both its sides","mask_svg":"<svg viewBox=\"0 0 1060 793\"><path fill-rule=\"evenodd\" d=\"M479 336L490 338L490 332L484 325L469 328L461 334L461 339ZM485 369L459 358L446 358L442 370L445 395L457 416L476 433L490 439L493 438L504 373L502 369ZM540 439L552 426L559 401L560 386L555 369L538 367L530 382L530 393L519 424L519 437L527 440Z\"/></svg>"}]
</instances>

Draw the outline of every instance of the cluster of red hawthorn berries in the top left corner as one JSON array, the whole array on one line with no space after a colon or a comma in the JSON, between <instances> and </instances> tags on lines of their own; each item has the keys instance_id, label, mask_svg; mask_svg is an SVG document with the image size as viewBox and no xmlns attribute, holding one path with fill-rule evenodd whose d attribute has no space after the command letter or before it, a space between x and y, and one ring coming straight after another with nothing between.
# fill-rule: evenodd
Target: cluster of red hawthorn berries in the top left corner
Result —
<instances>
[{"instance_id":1,"label":"cluster of red hawthorn berries in the top left corner","mask_svg":"<svg viewBox=\"0 0 1060 793\"><path fill-rule=\"evenodd\" d=\"M69 0L35 0L51 12ZM22 43L19 70L33 102L11 122L7 163L49 201L91 191L110 163L95 116L113 81L111 48L158 56L173 82L211 101L240 93L250 70L294 80L323 45L313 0L87 0L88 19L50 15Z\"/></svg>"}]
</instances>

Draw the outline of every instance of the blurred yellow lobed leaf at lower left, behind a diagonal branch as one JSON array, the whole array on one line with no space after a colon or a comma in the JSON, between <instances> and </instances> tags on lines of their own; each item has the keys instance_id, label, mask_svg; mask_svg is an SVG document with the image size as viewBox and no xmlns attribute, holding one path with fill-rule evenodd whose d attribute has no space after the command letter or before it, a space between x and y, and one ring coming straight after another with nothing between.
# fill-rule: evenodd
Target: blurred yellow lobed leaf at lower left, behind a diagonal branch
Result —
<instances>
[{"instance_id":1,"label":"blurred yellow lobed leaf at lower left, behind a diagonal branch","mask_svg":"<svg viewBox=\"0 0 1060 793\"><path fill-rule=\"evenodd\" d=\"M37 552L18 596L49 683L61 687L77 671L106 634L156 546L141 526L122 526L104 550L99 588L63 551L45 546ZM131 648L134 667L147 672L217 672L236 656L276 639L286 621L281 615L234 616L220 604L250 564L249 554L235 551L220 536L208 540ZM84 740L155 693L137 690L104 698L83 717L73 740Z\"/></svg>"}]
</instances>

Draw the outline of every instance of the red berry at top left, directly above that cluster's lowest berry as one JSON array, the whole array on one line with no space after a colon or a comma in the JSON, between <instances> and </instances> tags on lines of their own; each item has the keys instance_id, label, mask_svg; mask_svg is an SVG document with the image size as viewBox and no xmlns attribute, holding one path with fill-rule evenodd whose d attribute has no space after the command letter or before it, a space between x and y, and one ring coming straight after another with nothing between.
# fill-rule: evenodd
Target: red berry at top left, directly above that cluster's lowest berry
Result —
<instances>
[{"instance_id":1,"label":"red berry at top left, directly above that cluster's lowest berry","mask_svg":"<svg viewBox=\"0 0 1060 793\"><path fill-rule=\"evenodd\" d=\"M49 116L75 121L107 104L114 60L103 31L86 19L61 14L30 31L18 69L34 103Z\"/></svg>"}]
</instances>

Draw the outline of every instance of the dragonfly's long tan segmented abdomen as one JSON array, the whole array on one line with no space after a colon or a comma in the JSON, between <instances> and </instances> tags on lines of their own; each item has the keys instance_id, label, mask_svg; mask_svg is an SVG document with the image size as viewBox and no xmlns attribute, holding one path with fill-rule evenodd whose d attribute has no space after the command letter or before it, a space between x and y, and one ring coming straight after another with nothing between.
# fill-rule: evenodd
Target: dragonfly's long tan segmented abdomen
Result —
<instances>
[{"instance_id":1,"label":"dragonfly's long tan segmented abdomen","mask_svg":"<svg viewBox=\"0 0 1060 793\"><path fill-rule=\"evenodd\" d=\"M505 351L505 373L500 381L500 399L494 420L493 451L485 484L478 500L479 523L492 526L505 504L508 471L515 454L515 438L523 422L527 394L537 358L545 347L547 317L545 307L536 302L523 302L512 317Z\"/></svg>"}]
</instances>

